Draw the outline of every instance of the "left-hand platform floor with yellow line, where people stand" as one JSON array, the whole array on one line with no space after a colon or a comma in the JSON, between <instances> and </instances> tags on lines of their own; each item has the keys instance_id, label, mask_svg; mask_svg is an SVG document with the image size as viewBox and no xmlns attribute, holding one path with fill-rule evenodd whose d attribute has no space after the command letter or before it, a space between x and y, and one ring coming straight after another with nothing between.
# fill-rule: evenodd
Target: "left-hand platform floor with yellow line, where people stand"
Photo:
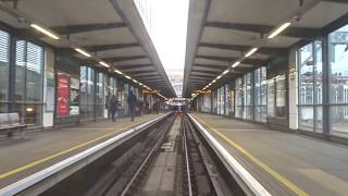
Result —
<instances>
[{"instance_id":1,"label":"left-hand platform floor with yellow line, where people stand","mask_svg":"<svg viewBox=\"0 0 348 196\"><path fill-rule=\"evenodd\" d=\"M79 126L46 131L23 139L0 142L0 188L76 155L160 114L117 119L116 122L85 122Z\"/></svg>"}]
</instances>

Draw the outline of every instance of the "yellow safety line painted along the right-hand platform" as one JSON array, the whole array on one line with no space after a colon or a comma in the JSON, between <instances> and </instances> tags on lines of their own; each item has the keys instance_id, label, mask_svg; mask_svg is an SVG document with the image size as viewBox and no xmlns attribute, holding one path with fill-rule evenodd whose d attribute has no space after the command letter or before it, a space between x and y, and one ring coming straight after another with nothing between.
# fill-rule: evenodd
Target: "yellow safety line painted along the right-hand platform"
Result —
<instances>
[{"instance_id":1,"label":"yellow safety line painted along the right-hand platform","mask_svg":"<svg viewBox=\"0 0 348 196\"><path fill-rule=\"evenodd\" d=\"M196 117L196 115L195 115ZM282 184L284 184L286 187L295 192L297 195L301 196L308 196L309 194L296 186L294 183L285 179L283 175L277 173L275 170L263 163L261 160L249 154L247 150L245 150L241 146L236 144L235 142L231 140L228 137L226 137L224 134L220 133L216 128L212 127L210 124L207 122L200 120L199 118L196 118L198 121L203 123L206 126L208 126L210 130L214 131L220 137L222 137L224 140L226 140L231 146L239 150L244 156L249 158L251 161L253 161L256 164L258 164L260 168L262 168L264 171L266 171L269 174L271 174L274 179L279 181Z\"/></svg>"}]
</instances>

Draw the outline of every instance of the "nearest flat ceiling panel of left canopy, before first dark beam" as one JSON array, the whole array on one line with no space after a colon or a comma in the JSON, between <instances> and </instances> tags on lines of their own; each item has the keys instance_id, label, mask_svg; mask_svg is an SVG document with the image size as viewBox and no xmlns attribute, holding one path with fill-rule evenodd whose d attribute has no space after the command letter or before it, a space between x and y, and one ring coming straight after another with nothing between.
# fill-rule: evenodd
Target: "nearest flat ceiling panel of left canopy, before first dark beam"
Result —
<instances>
[{"instance_id":1,"label":"nearest flat ceiling panel of left canopy, before first dark beam","mask_svg":"<svg viewBox=\"0 0 348 196\"><path fill-rule=\"evenodd\" d=\"M122 22L109 0L22 0L18 10L48 26Z\"/></svg>"}]
</instances>

